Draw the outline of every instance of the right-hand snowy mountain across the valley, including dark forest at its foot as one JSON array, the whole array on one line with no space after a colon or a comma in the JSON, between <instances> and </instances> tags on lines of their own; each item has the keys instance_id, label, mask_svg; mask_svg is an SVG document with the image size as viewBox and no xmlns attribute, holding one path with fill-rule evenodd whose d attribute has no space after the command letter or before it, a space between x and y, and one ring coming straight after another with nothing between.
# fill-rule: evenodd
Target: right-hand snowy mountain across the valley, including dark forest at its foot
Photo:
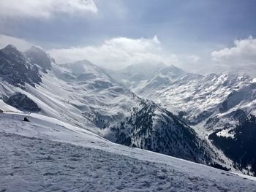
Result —
<instances>
[{"instance_id":1,"label":"right-hand snowy mountain across the valley, including dark forest at its foot","mask_svg":"<svg viewBox=\"0 0 256 192\"><path fill-rule=\"evenodd\" d=\"M233 72L203 76L167 66L130 88L174 112L202 138L210 138L234 166L256 171L256 153L251 148L256 137L255 78ZM247 134L251 137L244 137Z\"/></svg>"}]
</instances>

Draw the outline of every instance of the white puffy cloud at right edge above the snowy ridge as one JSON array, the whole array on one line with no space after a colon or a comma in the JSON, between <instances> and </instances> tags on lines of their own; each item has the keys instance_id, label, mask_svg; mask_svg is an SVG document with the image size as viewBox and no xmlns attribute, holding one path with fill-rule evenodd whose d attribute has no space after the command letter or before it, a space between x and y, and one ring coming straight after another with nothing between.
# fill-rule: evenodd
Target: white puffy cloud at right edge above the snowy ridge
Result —
<instances>
[{"instance_id":1,"label":"white puffy cloud at right edge above the snowy ridge","mask_svg":"<svg viewBox=\"0 0 256 192\"><path fill-rule=\"evenodd\" d=\"M233 66L243 66L245 64L256 65L256 39L235 40L235 47L214 50L211 53L213 61L219 64L230 64Z\"/></svg>"}]
</instances>

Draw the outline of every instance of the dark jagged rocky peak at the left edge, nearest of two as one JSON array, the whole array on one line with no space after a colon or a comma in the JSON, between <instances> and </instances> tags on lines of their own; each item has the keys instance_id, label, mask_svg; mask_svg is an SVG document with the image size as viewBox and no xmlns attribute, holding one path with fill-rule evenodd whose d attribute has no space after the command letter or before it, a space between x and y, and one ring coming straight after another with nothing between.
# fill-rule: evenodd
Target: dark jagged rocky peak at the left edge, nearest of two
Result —
<instances>
[{"instance_id":1,"label":"dark jagged rocky peak at the left edge, nearest of two","mask_svg":"<svg viewBox=\"0 0 256 192\"><path fill-rule=\"evenodd\" d=\"M37 66L31 65L26 55L12 45L0 50L0 77L21 88L25 83L35 86L42 82Z\"/></svg>"}]
</instances>

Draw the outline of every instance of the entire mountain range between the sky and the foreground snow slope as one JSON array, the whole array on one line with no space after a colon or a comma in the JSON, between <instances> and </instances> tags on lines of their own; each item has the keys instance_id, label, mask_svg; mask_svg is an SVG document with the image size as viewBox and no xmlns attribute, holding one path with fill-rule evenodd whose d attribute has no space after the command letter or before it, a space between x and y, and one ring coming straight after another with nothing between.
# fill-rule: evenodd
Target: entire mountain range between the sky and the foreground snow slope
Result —
<instances>
[{"instance_id":1,"label":"entire mountain range between the sky and the foreground snow slope","mask_svg":"<svg viewBox=\"0 0 256 192\"><path fill-rule=\"evenodd\" d=\"M254 122L256 81L248 76L202 76L162 64L117 72L87 60L58 65L37 47L21 53L12 45L0 61L4 112L37 112L111 142L255 173L255 155L241 164L219 137L241 141L238 126ZM251 150L247 142L241 153Z\"/></svg>"}]
</instances>

